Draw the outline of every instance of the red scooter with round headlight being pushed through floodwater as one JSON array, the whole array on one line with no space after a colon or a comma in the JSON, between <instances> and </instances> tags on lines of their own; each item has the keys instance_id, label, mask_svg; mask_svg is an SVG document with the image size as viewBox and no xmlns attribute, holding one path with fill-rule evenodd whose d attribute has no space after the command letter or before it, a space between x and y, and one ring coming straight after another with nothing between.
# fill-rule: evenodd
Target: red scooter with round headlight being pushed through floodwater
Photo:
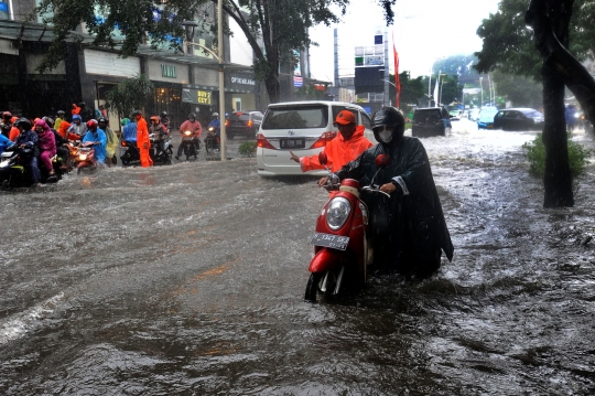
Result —
<instances>
[{"instance_id":1,"label":"red scooter with round headlight being pushed through floodwater","mask_svg":"<svg viewBox=\"0 0 595 396\"><path fill-rule=\"evenodd\" d=\"M318 154L320 163L326 165L324 152ZM390 158L380 154L376 158L378 171L388 167ZM326 168L326 167L325 167ZM328 168L328 184L326 190L338 192L332 195L323 206L316 229L312 238L314 258L310 263L310 279L306 285L304 300L316 301L318 292L325 296L339 295L345 289L359 289L367 280L367 267L371 264L372 251L369 243L368 207L359 200L359 182L353 179L332 180L334 174ZM390 196L374 188L374 175L370 185L361 190ZM335 176L336 178L336 176Z\"/></svg>"}]
</instances>

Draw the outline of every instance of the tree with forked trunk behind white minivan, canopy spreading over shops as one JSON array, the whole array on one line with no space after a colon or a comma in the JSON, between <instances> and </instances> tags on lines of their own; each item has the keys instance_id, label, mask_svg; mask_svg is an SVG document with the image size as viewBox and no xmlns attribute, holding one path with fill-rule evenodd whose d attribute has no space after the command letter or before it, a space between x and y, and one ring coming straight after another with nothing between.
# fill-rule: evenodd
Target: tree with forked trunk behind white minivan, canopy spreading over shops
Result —
<instances>
[{"instance_id":1,"label":"tree with forked trunk behind white minivan, canopy spreading over shops","mask_svg":"<svg viewBox=\"0 0 595 396\"><path fill-rule=\"evenodd\" d=\"M53 25L55 38L39 69L43 72L58 64L65 40L83 41L74 32L80 22L95 35L94 45L116 49L125 57L136 54L147 39L155 49L169 45L183 52L182 22L193 20L199 8L209 2L217 0L42 0L36 11L46 15L45 22ZM375 2L385 10L386 20L392 22L391 7L396 0ZM221 6L246 35L255 54L256 78L264 82L274 103L280 98L281 66L291 68L298 62L294 51L315 45L310 40L309 28L338 22L348 3L348 0L226 0ZM97 18L98 13L105 18ZM216 26L210 29L216 31ZM112 38L116 30L125 35L121 46Z\"/></svg>"}]
</instances>

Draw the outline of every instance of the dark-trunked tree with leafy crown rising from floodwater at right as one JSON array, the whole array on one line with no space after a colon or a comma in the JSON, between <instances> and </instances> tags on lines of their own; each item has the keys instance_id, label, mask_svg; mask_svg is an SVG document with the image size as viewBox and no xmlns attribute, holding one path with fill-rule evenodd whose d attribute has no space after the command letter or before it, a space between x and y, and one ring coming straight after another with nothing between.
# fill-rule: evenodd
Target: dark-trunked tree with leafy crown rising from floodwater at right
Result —
<instances>
[{"instance_id":1,"label":"dark-trunked tree with leafy crown rising from floodwater at right","mask_svg":"<svg viewBox=\"0 0 595 396\"><path fill-rule=\"evenodd\" d=\"M484 73L499 68L536 79L540 71L545 115L543 206L573 206L564 85L594 120L595 82L578 61L595 49L595 6L587 0L531 0L529 9L526 8L526 1L502 0L498 12L484 20L477 30L484 46L476 53L479 58L476 68ZM573 13L578 17L572 19Z\"/></svg>"}]
</instances>

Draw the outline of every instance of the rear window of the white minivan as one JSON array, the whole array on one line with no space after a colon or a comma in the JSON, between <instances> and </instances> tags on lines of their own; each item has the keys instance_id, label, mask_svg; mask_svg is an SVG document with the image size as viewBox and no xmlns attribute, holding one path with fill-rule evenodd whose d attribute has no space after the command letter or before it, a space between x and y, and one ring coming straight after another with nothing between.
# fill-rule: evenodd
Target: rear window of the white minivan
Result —
<instances>
[{"instance_id":1,"label":"rear window of the white minivan","mask_svg":"<svg viewBox=\"0 0 595 396\"><path fill-rule=\"evenodd\" d=\"M327 106L283 106L269 108L262 129L325 128L327 125Z\"/></svg>"}]
</instances>

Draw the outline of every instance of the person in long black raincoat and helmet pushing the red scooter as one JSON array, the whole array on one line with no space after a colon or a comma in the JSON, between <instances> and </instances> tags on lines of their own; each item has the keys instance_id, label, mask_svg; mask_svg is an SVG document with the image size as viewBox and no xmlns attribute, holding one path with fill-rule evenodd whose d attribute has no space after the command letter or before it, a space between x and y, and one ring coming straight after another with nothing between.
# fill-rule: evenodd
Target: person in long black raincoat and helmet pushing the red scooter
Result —
<instances>
[{"instance_id":1,"label":"person in long black raincoat and helmet pushing the red scooter","mask_svg":"<svg viewBox=\"0 0 595 396\"><path fill-rule=\"evenodd\" d=\"M442 250L448 260L454 247L446 227L428 154L418 138L404 137L404 118L394 107L372 115L378 145L364 151L335 174L369 185L377 172L376 158L388 154L390 163L374 180L390 194L361 192L368 205L374 265L379 270L425 278L437 271Z\"/></svg>"}]
</instances>

